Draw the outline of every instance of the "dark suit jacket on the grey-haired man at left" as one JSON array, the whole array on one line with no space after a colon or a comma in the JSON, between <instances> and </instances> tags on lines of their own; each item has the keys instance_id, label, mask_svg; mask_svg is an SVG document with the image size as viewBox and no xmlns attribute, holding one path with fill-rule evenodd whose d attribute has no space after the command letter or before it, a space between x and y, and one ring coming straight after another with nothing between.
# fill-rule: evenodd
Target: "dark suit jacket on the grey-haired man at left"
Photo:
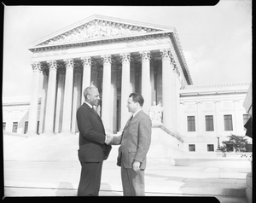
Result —
<instances>
[{"instance_id":1,"label":"dark suit jacket on the grey-haired man at left","mask_svg":"<svg viewBox=\"0 0 256 203\"><path fill-rule=\"evenodd\" d=\"M105 129L98 114L84 103L77 110L79 160L101 162L108 159L111 146L105 144Z\"/></svg>"}]
</instances>

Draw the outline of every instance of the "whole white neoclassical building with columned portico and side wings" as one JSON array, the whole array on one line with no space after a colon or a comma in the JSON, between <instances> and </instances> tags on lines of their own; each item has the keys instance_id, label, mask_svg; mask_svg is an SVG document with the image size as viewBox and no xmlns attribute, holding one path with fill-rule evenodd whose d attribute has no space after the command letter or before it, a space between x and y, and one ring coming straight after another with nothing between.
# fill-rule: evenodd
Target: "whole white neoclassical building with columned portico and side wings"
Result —
<instances>
[{"instance_id":1,"label":"whole white neoclassical building with columned portico and side wings","mask_svg":"<svg viewBox=\"0 0 256 203\"><path fill-rule=\"evenodd\" d=\"M93 15L28 49L30 102L3 101L3 131L78 133L76 111L84 89L94 85L107 133L122 131L131 116L130 93L143 95L154 124L149 155L155 159L216 156L227 136L246 133L243 102L251 83L193 84L173 27Z\"/></svg>"}]
</instances>

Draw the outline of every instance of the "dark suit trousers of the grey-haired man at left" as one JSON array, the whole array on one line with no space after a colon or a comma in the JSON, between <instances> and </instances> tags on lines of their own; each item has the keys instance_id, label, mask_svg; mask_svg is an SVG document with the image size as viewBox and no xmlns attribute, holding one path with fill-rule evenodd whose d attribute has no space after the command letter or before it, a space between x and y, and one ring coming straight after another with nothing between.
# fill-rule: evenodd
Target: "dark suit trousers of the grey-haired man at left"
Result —
<instances>
[{"instance_id":1,"label":"dark suit trousers of the grey-haired man at left","mask_svg":"<svg viewBox=\"0 0 256 203\"><path fill-rule=\"evenodd\" d=\"M98 196L101 187L102 161L80 162L81 176L78 188L78 196Z\"/></svg>"}]
</instances>

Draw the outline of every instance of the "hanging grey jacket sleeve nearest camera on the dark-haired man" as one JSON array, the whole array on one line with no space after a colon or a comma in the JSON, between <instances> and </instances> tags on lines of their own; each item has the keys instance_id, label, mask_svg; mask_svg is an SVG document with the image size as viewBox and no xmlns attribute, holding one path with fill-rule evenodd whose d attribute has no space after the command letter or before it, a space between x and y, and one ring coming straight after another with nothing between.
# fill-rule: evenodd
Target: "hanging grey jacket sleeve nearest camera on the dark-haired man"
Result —
<instances>
[{"instance_id":1,"label":"hanging grey jacket sleeve nearest camera on the dark-haired man","mask_svg":"<svg viewBox=\"0 0 256 203\"><path fill-rule=\"evenodd\" d=\"M138 126L138 141L137 141L137 153L134 159L139 162L143 162L143 159L148 153L148 149L151 143L151 119L147 116L142 118Z\"/></svg>"}]
</instances>

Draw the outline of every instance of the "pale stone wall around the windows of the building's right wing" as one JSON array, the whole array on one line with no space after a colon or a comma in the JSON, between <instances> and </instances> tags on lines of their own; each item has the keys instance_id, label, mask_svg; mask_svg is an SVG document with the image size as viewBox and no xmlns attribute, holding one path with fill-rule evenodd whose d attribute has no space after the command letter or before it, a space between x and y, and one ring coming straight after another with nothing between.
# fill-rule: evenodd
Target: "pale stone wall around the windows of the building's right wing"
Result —
<instances>
[{"instance_id":1,"label":"pale stone wall around the windows of the building's right wing","mask_svg":"<svg viewBox=\"0 0 256 203\"><path fill-rule=\"evenodd\" d=\"M209 96L181 96L179 130L183 136L183 151L187 156L216 156L214 153L219 144L234 134L244 136L243 114L247 114L242 106L246 92L242 94L224 94ZM232 115L233 131L224 131L224 115ZM206 131L206 115L213 116L213 131ZM195 116L195 131L188 131L188 116ZM250 137L247 137L252 142ZM189 152L189 144L195 144L195 152ZM207 151L207 144L214 146L213 152Z\"/></svg>"}]
</instances>

